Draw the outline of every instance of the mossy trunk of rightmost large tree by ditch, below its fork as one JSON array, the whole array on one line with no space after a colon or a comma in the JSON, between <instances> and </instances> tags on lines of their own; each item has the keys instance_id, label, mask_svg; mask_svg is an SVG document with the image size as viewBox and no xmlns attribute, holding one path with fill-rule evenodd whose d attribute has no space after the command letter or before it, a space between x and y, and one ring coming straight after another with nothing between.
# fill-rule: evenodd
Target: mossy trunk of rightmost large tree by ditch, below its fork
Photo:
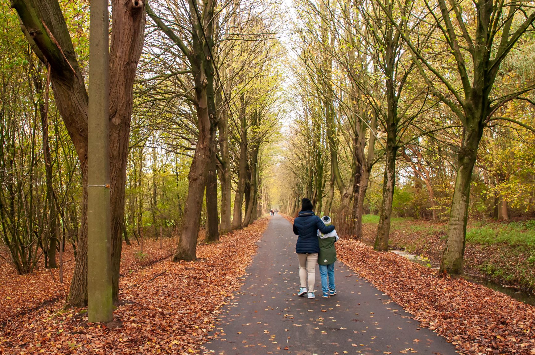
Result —
<instances>
[{"instance_id":1,"label":"mossy trunk of rightmost large tree by ditch, below its fork","mask_svg":"<svg viewBox=\"0 0 535 355\"><path fill-rule=\"evenodd\" d=\"M473 126L463 128L461 149L457 153L458 169L440 272L447 272L449 274L461 274L463 272L464 242L468 220L472 169L476 163L477 149L483 135L483 126L484 124L476 123Z\"/></svg>"}]
</instances>

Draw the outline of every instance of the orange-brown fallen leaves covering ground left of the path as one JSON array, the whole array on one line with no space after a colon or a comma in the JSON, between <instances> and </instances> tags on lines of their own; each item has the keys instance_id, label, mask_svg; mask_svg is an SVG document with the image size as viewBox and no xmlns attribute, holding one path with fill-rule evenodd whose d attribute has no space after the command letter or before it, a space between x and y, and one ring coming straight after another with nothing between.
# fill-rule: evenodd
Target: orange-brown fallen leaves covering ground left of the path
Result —
<instances>
[{"instance_id":1,"label":"orange-brown fallen leaves covering ground left of the path","mask_svg":"<svg viewBox=\"0 0 535 355\"><path fill-rule=\"evenodd\" d=\"M106 325L88 323L85 309L62 311L63 299L19 314L1 330L0 353L197 353L219 308L240 287L267 223L199 245L198 261L165 258L128 272L120 280L121 305Z\"/></svg>"}]
</instances>

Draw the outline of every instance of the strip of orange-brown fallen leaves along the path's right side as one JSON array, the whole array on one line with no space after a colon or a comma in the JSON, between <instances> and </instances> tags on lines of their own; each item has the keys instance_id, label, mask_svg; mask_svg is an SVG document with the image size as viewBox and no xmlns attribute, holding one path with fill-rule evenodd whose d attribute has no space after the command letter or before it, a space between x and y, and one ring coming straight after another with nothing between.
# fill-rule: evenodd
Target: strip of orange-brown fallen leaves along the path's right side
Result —
<instances>
[{"instance_id":1,"label":"strip of orange-brown fallen leaves along the path's right side","mask_svg":"<svg viewBox=\"0 0 535 355\"><path fill-rule=\"evenodd\" d=\"M290 222L293 218L286 217ZM535 307L342 238L338 257L465 354L535 354Z\"/></svg>"}]
</instances>

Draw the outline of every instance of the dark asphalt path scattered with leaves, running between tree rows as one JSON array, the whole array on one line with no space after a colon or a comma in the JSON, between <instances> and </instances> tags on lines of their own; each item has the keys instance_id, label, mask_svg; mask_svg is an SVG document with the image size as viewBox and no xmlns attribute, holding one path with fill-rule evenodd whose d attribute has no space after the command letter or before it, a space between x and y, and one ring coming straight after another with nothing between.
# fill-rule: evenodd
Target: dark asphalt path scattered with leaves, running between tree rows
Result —
<instances>
[{"instance_id":1,"label":"dark asphalt path scattered with leaves, running between tree rows","mask_svg":"<svg viewBox=\"0 0 535 355\"><path fill-rule=\"evenodd\" d=\"M205 354L456 354L452 344L418 327L398 304L335 264L338 295L297 296L296 236L283 217L272 217L233 302L219 315L220 334Z\"/></svg>"}]
</instances>

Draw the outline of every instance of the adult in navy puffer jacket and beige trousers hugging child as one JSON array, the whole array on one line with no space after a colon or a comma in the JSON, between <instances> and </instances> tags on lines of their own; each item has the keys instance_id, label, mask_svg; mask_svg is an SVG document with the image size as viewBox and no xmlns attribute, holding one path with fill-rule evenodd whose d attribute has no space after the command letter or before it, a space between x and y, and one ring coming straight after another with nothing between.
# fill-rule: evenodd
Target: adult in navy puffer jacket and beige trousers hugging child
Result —
<instances>
[{"instance_id":1,"label":"adult in navy puffer jacket and beige trousers hugging child","mask_svg":"<svg viewBox=\"0 0 535 355\"><path fill-rule=\"evenodd\" d=\"M334 230L334 226L325 226L322 220L314 214L313 208L310 200L303 198L301 211L294 219L294 234L298 235L295 252L299 259L299 280L301 282L298 295L308 294L308 298L316 297L314 283L316 282L316 263L319 253L318 229L323 234L331 233Z\"/></svg>"}]
</instances>

